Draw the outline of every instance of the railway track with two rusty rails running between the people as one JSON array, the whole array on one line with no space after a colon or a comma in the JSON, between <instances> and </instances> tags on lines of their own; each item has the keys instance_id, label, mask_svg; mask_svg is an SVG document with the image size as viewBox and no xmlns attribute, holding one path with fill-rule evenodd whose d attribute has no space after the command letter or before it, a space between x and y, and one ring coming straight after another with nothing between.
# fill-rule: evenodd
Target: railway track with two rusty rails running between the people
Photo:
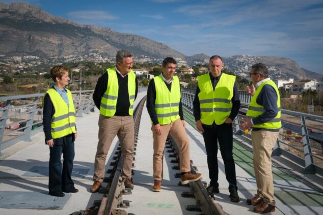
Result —
<instances>
[{"instance_id":1,"label":"railway track with two rusty rails running between the people","mask_svg":"<svg viewBox=\"0 0 323 215\"><path fill-rule=\"evenodd\" d=\"M134 118L134 156L136 156L137 142L138 142L138 134L139 134L139 126L142 110L144 108L144 104L146 101L146 97L144 97L140 103L138 104L136 110L134 110L133 118ZM119 144L119 143L117 143ZM166 141L165 147L170 154L167 159L172 159L171 163L179 163L179 147L176 141L169 136ZM110 163L112 169L107 170L107 173L110 173L109 177L104 178L104 182L107 183L106 187L102 187L99 190L99 193L102 193L102 199L96 200L94 202L94 206L87 209L83 212L74 212L73 215L110 215L110 214L132 214L127 213L124 208L130 206L130 201L123 200L123 195L131 195L132 191L124 187L121 177L121 164L122 164L122 156L121 156L121 147L120 144L116 148L114 152L113 161ZM134 157L135 158L135 157ZM135 159L133 159L135 160ZM132 164L134 166L134 163ZM176 168L176 165L175 165ZM179 167L178 167L179 169ZM191 161L191 171L196 172L197 169L193 165ZM180 177L180 173L176 173L175 177ZM181 182L178 184L181 185ZM190 211L199 211L201 214L226 214L221 205L214 203L213 196L210 196L205 188L206 183L201 180L189 183L190 191L183 192L181 194L182 197L193 197L196 199L195 205L186 205L186 210ZM129 211L129 210L128 210ZM131 211L131 210L130 210Z\"/></svg>"}]
</instances>

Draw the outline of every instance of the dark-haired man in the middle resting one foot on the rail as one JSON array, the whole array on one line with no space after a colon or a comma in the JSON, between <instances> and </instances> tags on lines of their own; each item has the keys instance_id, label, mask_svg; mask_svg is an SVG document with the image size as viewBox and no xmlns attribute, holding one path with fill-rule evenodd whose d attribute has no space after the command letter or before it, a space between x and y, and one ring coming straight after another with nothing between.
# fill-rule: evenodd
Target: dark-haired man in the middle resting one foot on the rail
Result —
<instances>
[{"instance_id":1,"label":"dark-haired man in the middle resting one foot on the rail","mask_svg":"<svg viewBox=\"0 0 323 215\"><path fill-rule=\"evenodd\" d=\"M148 85L147 110L152 121L154 192L160 192L163 179L163 158L168 134L179 145L179 167L182 185L197 181L201 174L192 174L190 167L190 142L185 132L179 79L174 76L176 60L167 57L163 61L163 73L154 77Z\"/></svg>"}]
</instances>

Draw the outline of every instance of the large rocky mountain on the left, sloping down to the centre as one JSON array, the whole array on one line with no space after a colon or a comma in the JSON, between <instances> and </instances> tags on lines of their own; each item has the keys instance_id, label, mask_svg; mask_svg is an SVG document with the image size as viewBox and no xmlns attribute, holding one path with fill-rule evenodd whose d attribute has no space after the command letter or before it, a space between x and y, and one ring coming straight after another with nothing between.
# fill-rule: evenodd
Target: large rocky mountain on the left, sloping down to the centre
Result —
<instances>
[{"instance_id":1,"label":"large rocky mountain on the left, sloping down to the centre","mask_svg":"<svg viewBox=\"0 0 323 215\"><path fill-rule=\"evenodd\" d=\"M128 49L138 57L185 59L166 44L111 28L80 25L24 3L0 3L0 41L0 54L64 57L97 52L113 57L117 50Z\"/></svg>"}]
</instances>

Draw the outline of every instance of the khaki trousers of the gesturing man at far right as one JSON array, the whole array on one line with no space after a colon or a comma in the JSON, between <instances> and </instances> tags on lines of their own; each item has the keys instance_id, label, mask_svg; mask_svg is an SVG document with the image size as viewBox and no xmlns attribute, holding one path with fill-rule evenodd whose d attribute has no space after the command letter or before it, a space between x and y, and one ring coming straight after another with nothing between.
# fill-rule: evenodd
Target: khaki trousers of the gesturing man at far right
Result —
<instances>
[{"instance_id":1,"label":"khaki trousers of the gesturing man at far right","mask_svg":"<svg viewBox=\"0 0 323 215\"><path fill-rule=\"evenodd\" d=\"M279 132L260 130L252 131L251 135L257 194L265 203L273 206L275 206L275 198L271 156L278 134Z\"/></svg>"}]
</instances>

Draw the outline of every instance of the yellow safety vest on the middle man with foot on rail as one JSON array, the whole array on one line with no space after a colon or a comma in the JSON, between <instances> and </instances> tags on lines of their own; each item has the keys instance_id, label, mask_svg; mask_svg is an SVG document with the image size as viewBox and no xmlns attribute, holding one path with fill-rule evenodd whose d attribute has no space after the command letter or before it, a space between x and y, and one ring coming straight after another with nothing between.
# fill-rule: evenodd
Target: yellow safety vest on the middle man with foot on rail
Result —
<instances>
[{"instance_id":1,"label":"yellow safety vest on the middle man with foot on rail","mask_svg":"<svg viewBox=\"0 0 323 215\"><path fill-rule=\"evenodd\" d=\"M160 125L170 124L179 119L180 87L177 76L173 76L171 91L162 76L154 77L156 88L155 112Z\"/></svg>"}]
</instances>

